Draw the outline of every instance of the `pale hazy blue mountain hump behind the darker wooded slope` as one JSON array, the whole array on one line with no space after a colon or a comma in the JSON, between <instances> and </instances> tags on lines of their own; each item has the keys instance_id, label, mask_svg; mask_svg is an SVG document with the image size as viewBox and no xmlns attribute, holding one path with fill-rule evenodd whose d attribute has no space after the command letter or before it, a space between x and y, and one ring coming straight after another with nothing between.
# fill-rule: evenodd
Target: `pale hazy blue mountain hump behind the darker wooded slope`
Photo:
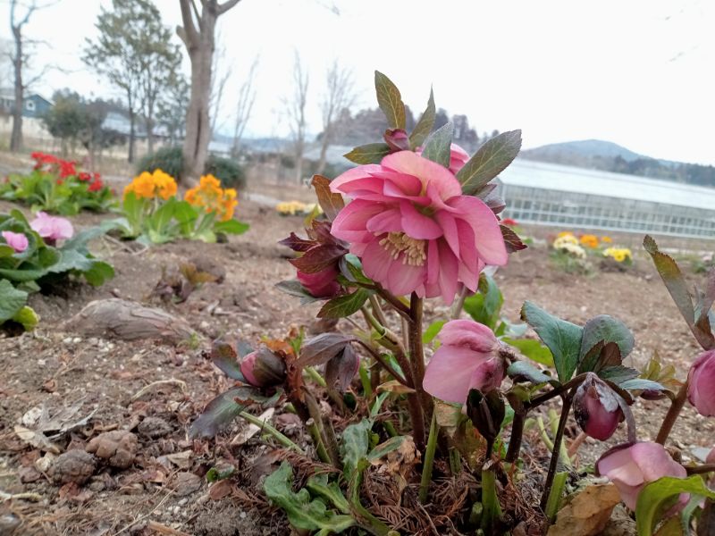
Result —
<instances>
[{"instance_id":1,"label":"pale hazy blue mountain hump behind the darker wooded slope","mask_svg":"<svg viewBox=\"0 0 715 536\"><path fill-rule=\"evenodd\" d=\"M649 158L648 156L638 155L626 147L619 146L617 143L603 141L602 139L552 143L534 149L526 149L519 155L531 160L553 163L571 163L571 161L576 163L593 158L616 158L617 156L620 156L626 162Z\"/></svg>"}]
</instances>

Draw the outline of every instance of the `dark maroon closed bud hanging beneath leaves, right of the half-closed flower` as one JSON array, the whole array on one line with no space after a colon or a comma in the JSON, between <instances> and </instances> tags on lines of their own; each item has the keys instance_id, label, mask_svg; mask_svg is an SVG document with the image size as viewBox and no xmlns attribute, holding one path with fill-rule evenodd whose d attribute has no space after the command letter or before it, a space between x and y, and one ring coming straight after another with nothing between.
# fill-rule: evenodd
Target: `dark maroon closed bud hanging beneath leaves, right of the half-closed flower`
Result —
<instances>
[{"instance_id":1,"label":"dark maroon closed bud hanging beneath leaves, right of the half-closed flower","mask_svg":"<svg viewBox=\"0 0 715 536\"><path fill-rule=\"evenodd\" d=\"M574 398L576 423L586 435L601 441L613 435L624 418L617 396L605 381L594 373L587 373Z\"/></svg>"}]
</instances>

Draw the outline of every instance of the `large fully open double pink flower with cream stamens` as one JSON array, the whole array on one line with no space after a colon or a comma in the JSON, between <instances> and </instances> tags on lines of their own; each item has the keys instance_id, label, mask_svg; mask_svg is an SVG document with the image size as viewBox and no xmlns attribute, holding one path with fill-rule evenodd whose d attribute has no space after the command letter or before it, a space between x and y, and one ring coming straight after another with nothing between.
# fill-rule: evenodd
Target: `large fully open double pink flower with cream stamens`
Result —
<instances>
[{"instance_id":1,"label":"large fully open double pink flower with cream stamens","mask_svg":"<svg viewBox=\"0 0 715 536\"><path fill-rule=\"evenodd\" d=\"M344 172L331 189L353 199L332 235L349 242L366 275L393 294L451 303L458 283L475 290L484 265L507 263L489 207L462 195L449 170L411 151Z\"/></svg>"}]
</instances>

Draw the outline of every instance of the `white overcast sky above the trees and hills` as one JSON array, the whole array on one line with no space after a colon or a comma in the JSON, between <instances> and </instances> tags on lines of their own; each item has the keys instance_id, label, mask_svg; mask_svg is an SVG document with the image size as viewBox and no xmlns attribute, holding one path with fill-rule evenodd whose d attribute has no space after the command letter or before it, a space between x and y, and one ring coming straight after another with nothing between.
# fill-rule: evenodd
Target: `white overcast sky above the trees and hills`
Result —
<instances>
[{"instance_id":1,"label":"white overcast sky above the trees and hills","mask_svg":"<svg viewBox=\"0 0 715 536\"><path fill-rule=\"evenodd\" d=\"M178 0L155 2L166 24L181 21ZM33 67L69 71L47 75L38 91L119 96L80 61L99 4L110 2L60 0L33 15L27 35L50 44ZM8 6L0 0L0 38L10 38ZM432 84L438 107L466 113L480 132L520 128L525 147L601 138L644 155L715 163L713 28L711 0L241 0L219 24L223 68L233 70L219 122L231 131L231 101L258 55L247 134L284 134L282 96L297 49L310 72L312 132L337 57L354 70L359 105L374 106L377 69L416 114Z\"/></svg>"}]
</instances>

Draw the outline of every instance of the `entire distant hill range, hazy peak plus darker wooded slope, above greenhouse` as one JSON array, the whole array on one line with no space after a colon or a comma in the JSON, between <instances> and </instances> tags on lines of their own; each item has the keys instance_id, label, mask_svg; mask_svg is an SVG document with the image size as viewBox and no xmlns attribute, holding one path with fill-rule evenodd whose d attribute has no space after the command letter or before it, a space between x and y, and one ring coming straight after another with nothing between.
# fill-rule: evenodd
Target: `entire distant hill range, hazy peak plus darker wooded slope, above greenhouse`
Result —
<instances>
[{"instance_id":1,"label":"entire distant hill range, hazy peak plus darker wooded slope, above greenhouse","mask_svg":"<svg viewBox=\"0 0 715 536\"><path fill-rule=\"evenodd\" d=\"M601 139L553 143L526 149L519 156L539 162L715 187L715 167L711 165L657 160Z\"/></svg>"}]
</instances>

